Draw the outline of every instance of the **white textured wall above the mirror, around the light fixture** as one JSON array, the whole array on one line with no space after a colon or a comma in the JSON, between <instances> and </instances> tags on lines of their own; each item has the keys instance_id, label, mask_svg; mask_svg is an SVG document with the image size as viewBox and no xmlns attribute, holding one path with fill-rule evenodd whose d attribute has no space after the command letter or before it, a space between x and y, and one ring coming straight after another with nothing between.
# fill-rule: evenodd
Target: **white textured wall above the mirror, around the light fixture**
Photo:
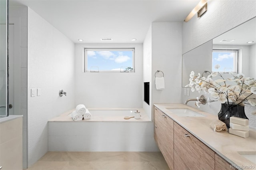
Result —
<instances>
[{"instance_id":1,"label":"white textured wall above the mirror, around the light fixture","mask_svg":"<svg viewBox=\"0 0 256 170\"><path fill-rule=\"evenodd\" d=\"M212 40L256 16L255 0L211 0L201 18L195 15L182 26L182 53Z\"/></svg>"}]
</instances>

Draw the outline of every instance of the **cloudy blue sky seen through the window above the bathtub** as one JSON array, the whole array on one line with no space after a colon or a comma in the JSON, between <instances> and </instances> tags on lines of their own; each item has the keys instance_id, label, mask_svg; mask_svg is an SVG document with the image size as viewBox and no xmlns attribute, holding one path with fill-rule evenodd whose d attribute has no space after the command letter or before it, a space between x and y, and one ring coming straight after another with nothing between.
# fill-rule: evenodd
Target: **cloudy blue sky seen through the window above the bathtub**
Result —
<instances>
[{"instance_id":1,"label":"cloudy blue sky seen through the window above the bathtub","mask_svg":"<svg viewBox=\"0 0 256 170\"><path fill-rule=\"evenodd\" d=\"M133 51L87 51L87 70L98 66L102 70L120 70L120 67L132 67ZM125 69L125 68L124 68Z\"/></svg>"}]
</instances>

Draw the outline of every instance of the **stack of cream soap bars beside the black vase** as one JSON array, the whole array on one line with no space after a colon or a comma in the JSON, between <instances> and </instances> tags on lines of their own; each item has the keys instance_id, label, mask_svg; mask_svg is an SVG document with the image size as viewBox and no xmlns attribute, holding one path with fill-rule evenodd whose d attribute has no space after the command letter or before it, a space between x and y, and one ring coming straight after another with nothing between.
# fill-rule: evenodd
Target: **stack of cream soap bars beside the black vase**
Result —
<instances>
[{"instance_id":1,"label":"stack of cream soap bars beside the black vase","mask_svg":"<svg viewBox=\"0 0 256 170\"><path fill-rule=\"evenodd\" d=\"M247 138L249 137L249 120L240 117L230 117L229 133Z\"/></svg>"}]
</instances>

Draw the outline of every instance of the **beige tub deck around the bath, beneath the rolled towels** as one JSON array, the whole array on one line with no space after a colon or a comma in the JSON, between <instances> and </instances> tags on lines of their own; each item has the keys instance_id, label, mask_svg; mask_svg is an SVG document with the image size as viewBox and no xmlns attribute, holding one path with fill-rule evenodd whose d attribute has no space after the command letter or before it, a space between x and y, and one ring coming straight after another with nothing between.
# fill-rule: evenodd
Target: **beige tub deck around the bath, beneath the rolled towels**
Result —
<instances>
[{"instance_id":1,"label":"beige tub deck around the bath, beneath the rolled towels","mask_svg":"<svg viewBox=\"0 0 256 170\"><path fill-rule=\"evenodd\" d=\"M72 109L70 111L67 111L58 117L54 117L48 122L151 122L152 120L146 115L145 111L142 108L87 108L90 113L92 114L92 117L90 119L82 120L82 121L74 121L72 117L70 116L70 113L72 113L75 109ZM134 111L140 111L140 119L124 119L125 116L134 116ZM97 111L96 113L94 113ZM108 112L106 115L104 115L104 111ZM127 111L127 113L114 113L112 114L111 111L117 112L117 111ZM132 111L132 113L130 112ZM98 113L100 112L100 113Z\"/></svg>"}]
</instances>

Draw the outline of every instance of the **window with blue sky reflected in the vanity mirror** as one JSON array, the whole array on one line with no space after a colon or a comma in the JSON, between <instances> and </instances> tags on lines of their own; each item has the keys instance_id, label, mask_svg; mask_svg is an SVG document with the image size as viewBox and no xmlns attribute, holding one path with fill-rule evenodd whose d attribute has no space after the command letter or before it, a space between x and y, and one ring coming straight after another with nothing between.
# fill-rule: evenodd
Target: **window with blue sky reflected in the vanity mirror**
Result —
<instances>
[{"instance_id":1,"label":"window with blue sky reflected in the vanity mirror","mask_svg":"<svg viewBox=\"0 0 256 170\"><path fill-rule=\"evenodd\" d=\"M238 50L236 49L213 49L212 51L212 71L221 73L237 73ZM215 65L220 65L215 69Z\"/></svg>"}]
</instances>

